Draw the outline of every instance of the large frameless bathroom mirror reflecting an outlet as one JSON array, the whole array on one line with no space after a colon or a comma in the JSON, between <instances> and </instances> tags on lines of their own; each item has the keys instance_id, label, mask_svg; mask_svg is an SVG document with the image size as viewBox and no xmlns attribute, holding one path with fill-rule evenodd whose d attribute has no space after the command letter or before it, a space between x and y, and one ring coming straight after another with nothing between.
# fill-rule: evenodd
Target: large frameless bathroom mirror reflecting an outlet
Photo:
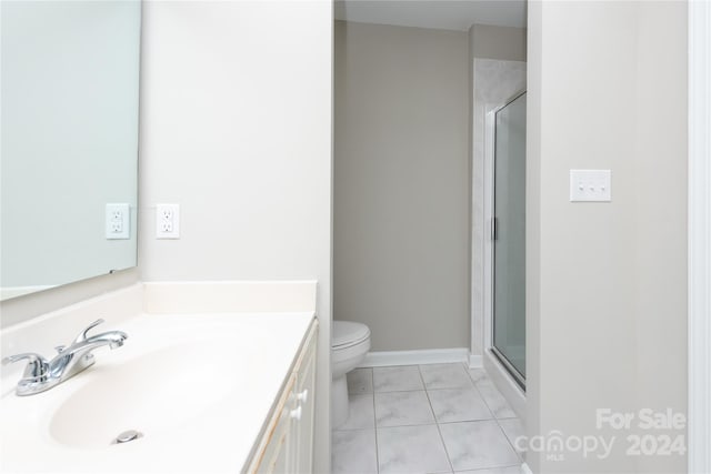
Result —
<instances>
[{"instance_id":1,"label":"large frameless bathroom mirror reflecting an outlet","mask_svg":"<svg viewBox=\"0 0 711 474\"><path fill-rule=\"evenodd\" d=\"M140 1L2 0L0 22L0 297L136 266Z\"/></svg>"}]
</instances>

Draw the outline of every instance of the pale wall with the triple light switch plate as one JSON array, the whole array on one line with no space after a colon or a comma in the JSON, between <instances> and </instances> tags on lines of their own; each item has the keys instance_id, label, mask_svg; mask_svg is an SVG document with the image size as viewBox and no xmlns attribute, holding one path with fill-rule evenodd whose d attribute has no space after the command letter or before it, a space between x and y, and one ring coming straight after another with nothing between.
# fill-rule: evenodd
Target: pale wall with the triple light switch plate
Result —
<instances>
[{"instance_id":1,"label":"pale wall with the triple light switch plate","mask_svg":"<svg viewBox=\"0 0 711 474\"><path fill-rule=\"evenodd\" d=\"M608 458L528 461L685 472L627 455L634 427L595 410L687 411L687 6L531 2L528 60L529 434L618 437ZM611 169L612 202L570 203L577 168Z\"/></svg>"}]
</instances>

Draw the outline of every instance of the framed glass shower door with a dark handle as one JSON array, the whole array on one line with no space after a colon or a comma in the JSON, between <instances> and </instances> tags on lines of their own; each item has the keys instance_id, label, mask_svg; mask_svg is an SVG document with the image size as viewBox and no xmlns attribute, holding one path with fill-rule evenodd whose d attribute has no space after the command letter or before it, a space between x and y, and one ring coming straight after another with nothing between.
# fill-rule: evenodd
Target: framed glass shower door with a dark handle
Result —
<instances>
[{"instance_id":1,"label":"framed glass shower door with a dark handle","mask_svg":"<svg viewBox=\"0 0 711 474\"><path fill-rule=\"evenodd\" d=\"M493 352L525 381L525 92L495 112Z\"/></svg>"}]
</instances>

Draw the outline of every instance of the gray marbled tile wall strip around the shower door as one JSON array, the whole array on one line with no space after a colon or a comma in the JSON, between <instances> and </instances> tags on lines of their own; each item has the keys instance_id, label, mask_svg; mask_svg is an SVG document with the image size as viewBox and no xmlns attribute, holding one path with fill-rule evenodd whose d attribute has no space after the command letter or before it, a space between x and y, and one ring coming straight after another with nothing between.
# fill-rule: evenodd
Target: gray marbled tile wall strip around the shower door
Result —
<instances>
[{"instance_id":1,"label":"gray marbled tile wall strip around the shower door","mask_svg":"<svg viewBox=\"0 0 711 474\"><path fill-rule=\"evenodd\" d=\"M472 337L471 352L483 354L484 123L487 112L525 89L525 62L474 59L472 142Z\"/></svg>"}]
</instances>

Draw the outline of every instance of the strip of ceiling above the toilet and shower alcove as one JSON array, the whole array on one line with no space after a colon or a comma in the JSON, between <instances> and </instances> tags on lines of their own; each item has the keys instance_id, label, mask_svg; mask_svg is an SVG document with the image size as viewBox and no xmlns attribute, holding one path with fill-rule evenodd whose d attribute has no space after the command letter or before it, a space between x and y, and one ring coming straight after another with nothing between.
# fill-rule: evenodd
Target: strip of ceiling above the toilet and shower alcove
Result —
<instances>
[{"instance_id":1,"label":"strip of ceiling above the toilet and shower alcove","mask_svg":"<svg viewBox=\"0 0 711 474\"><path fill-rule=\"evenodd\" d=\"M525 0L337 0L334 13L337 20L443 30L525 27Z\"/></svg>"}]
</instances>

